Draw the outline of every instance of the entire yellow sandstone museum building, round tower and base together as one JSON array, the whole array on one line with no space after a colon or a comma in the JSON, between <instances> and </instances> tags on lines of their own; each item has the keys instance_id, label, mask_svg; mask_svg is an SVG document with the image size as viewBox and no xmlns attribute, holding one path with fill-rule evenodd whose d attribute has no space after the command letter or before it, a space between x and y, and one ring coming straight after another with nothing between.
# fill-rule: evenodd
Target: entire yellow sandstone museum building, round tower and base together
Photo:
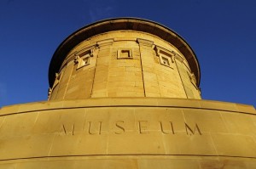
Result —
<instances>
[{"instance_id":1,"label":"entire yellow sandstone museum building, round tower and base together","mask_svg":"<svg viewBox=\"0 0 256 169\"><path fill-rule=\"evenodd\" d=\"M85 25L53 54L48 100L0 109L0 169L256 168L255 109L201 99L200 81L164 25Z\"/></svg>"}]
</instances>

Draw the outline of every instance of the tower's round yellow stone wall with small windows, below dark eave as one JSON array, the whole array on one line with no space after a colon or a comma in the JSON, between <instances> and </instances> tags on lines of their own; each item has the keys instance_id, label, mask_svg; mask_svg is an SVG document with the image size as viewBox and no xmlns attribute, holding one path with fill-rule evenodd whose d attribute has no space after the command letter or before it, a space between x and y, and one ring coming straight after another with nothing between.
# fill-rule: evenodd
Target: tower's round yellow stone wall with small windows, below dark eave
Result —
<instances>
[{"instance_id":1,"label":"tower's round yellow stone wall with small windows, below dark eave","mask_svg":"<svg viewBox=\"0 0 256 169\"><path fill-rule=\"evenodd\" d=\"M201 99L195 75L172 44L140 31L109 31L74 47L49 100L102 97Z\"/></svg>"}]
</instances>

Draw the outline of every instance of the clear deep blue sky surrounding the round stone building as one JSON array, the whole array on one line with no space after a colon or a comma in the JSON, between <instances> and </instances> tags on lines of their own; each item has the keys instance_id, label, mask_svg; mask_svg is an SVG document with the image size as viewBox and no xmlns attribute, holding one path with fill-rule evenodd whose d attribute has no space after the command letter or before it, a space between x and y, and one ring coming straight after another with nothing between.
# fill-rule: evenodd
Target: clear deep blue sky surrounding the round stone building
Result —
<instances>
[{"instance_id":1,"label":"clear deep blue sky surrounding the round stone building","mask_svg":"<svg viewBox=\"0 0 256 169\"><path fill-rule=\"evenodd\" d=\"M0 0L0 107L46 100L58 45L84 25L113 17L176 31L201 65L203 99L256 107L254 0Z\"/></svg>"}]
</instances>

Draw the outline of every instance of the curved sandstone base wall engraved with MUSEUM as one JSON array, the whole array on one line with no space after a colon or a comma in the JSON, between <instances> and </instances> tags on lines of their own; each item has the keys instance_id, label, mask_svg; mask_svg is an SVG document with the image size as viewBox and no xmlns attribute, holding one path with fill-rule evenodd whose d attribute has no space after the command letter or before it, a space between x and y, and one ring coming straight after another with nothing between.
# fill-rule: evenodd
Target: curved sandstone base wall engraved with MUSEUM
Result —
<instances>
[{"instance_id":1,"label":"curved sandstone base wall engraved with MUSEUM","mask_svg":"<svg viewBox=\"0 0 256 169\"><path fill-rule=\"evenodd\" d=\"M253 106L108 98L0 110L0 168L253 168Z\"/></svg>"}]
</instances>

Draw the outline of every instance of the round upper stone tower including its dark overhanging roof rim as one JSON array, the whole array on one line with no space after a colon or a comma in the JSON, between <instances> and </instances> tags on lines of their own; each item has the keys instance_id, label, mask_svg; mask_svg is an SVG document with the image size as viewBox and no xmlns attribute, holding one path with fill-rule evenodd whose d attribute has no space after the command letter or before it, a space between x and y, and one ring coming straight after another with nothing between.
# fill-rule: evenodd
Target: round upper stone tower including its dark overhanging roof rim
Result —
<instances>
[{"instance_id":1,"label":"round upper stone tower including its dark overhanging roof rim","mask_svg":"<svg viewBox=\"0 0 256 169\"><path fill-rule=\"evenodd\" d=\"M87 25L49 66L49 100L106 97L201 99L193 50L174 31L137 19Z\"/></svg>"}]
</instances>

